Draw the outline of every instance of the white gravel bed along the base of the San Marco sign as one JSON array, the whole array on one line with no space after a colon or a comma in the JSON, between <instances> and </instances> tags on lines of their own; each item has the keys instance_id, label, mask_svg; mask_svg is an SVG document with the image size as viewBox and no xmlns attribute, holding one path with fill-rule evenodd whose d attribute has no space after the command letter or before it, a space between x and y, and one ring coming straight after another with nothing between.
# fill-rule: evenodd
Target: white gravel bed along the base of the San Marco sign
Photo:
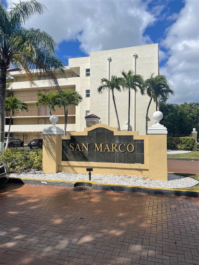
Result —
<instances>
[{"instance_id":1,"label":"white gravel bed along the base of the San Marco sign","mask_svg":"<svg viewBox=\"0 0 199 265\"><path fill-rule=\"evenodd\" d=\"M29 171L20 174L11 173L9 177L17 178L31 178L40 180L63 180L76 182L79 180L89 180L88 174L76 174L67 172L58 172L53 174L46 174L42 171ZM120 176L120 175L91 175L91 181L104 184L118 184L130 185L140 187L153 187L153 188L187 188L197 185L199 181L185 176L178 176L175 174L168 174L168 181L164 180L150 180L144 177L137 176Z\"/></svg>"}]
</instances>

